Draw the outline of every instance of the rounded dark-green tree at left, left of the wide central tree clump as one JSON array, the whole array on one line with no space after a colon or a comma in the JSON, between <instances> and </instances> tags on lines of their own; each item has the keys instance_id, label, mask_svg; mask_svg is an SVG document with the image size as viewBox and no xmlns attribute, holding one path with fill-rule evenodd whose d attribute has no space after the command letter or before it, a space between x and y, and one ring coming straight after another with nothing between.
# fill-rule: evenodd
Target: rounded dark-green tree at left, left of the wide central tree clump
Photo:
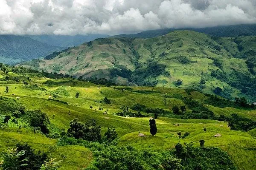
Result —
<instances>
[{"instance_id":1,"label":"rounded dark-green tree at left, left of the wide central tree clump","mask_svg":"<svg viewBox=\"0 0 256 170\"><path fill-rule=\"evenodd\" d=\"M31 111L30 113L30 125L34 127L34 133L36 127L41 128L41 132L44 134L48 134L49 130L47 129L47 125L49 124L49 118L46 113L41 111Z\"/></svg>"}]
</instances>

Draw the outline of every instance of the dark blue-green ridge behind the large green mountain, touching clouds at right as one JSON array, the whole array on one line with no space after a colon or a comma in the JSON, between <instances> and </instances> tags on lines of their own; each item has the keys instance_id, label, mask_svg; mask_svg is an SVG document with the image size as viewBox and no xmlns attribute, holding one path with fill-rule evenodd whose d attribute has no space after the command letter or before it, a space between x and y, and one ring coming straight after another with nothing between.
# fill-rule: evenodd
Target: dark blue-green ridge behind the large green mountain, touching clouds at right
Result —
<instances>
[{"instance_id":1,"label":"dark blue-green ridge behind the large green mountain, touching clouds at right","mask_svg":"<svg viewBox=\"0 0 256 170\"><path fill-rule=\"evenodd\" d=\"M250 36L256 35L256 24L244 24L236 26L217 26L209 28L168 28L159 30L143 31L138 34L120 34L113 37L129 37L129 38L152 38L161 35L168 34L175 30L191 30L197 31L204 34L209 34L215 37L236 37L236 36Z\"/></svg>"}]
</instances>

